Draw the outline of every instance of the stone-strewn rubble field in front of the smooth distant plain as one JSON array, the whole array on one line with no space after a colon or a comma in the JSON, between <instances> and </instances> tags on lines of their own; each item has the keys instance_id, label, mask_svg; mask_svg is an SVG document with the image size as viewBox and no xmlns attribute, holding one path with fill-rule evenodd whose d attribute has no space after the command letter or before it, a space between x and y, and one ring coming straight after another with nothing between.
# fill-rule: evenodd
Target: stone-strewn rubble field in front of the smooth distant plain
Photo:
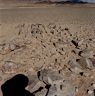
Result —
<instances>
[{"instance_id":1,"label":"stone-strewn rubble field in front of the smooth distant plain","mask_svg":"<svg viewBox=\"0 0 95 96\"><path fill-rule=\"evenodd\" d=\"M54 23L15 29L15 38L0 43L1 82L23 73L30 79L28 90L38 90L35 96L95 95L95 38Z\"/></svg>"}]
</instances>

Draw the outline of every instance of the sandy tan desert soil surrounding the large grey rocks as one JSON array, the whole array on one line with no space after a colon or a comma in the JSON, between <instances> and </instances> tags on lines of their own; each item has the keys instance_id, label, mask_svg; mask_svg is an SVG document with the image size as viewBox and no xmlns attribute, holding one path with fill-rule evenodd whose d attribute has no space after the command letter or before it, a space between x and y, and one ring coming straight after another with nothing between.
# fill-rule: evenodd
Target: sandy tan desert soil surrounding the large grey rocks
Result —
<instances>
[{"instance_id":1,"label":"sandy tan desert soil surrounding the large grey rocks","mask_svg":"<svg viewBox=\"0 0 95 96\"><path fill-rule=\"evenodd\" d=\"M68 70L70 60L81 58L72 40L80 42L79 50L91 50L95 56L95 8L0 9L0 84L15 74L31 77L46 68L60 70L80 86L76 96L91 96L86 90L95 83L95 67L83 67L83 77Z\"/></svg>"}]
</instances>

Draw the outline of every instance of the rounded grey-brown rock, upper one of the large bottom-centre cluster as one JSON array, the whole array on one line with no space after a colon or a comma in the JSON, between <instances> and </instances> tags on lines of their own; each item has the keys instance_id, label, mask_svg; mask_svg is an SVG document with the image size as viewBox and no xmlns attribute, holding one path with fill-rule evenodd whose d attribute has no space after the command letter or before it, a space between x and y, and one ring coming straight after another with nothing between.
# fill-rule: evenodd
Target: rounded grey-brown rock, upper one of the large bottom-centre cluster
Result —
<instances>
[{"instance_id":1,"label":"rounded grey-brown rock, upper one of the large bottom-centre cluster","mask_svg":"<svg viewBox=\"0 0 95 96\"><path fill-rule=\"evenodd\" d=\"M39 72L39 79L50 85L62 82L64 80L63 76L58 72L46 69Z\"/></svg>"}]
</instances>

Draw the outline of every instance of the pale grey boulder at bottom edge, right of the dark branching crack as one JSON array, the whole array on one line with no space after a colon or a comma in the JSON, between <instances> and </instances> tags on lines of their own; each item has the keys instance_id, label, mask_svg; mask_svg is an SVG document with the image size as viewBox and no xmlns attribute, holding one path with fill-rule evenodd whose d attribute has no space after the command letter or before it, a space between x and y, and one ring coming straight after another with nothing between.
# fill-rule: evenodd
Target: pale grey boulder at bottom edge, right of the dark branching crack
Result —
<instances>
[{"instance_id":1,"label":"pale grey boulder at bottom edge, right of the dark branching crack","mask_svg":"<svg viewBox=\"0 0 95 96\"><path fill-rule=\"evenodd\" d=\"M54 84L50 87L47 96L75 96L75 87L69 82Z\"/></svg>"}]
</instances>

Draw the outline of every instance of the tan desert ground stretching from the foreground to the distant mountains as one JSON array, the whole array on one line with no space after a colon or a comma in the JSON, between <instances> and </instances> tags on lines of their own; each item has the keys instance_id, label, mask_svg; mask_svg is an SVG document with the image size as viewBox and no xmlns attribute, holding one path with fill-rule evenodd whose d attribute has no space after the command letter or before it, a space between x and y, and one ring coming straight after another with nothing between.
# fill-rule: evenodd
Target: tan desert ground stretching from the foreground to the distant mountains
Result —
<instances>
[{"instance_id":1,"label":"tan desert ground stretching from the foreground to the distant mountains","mask_svg":"<svg viewBox=\"0 0 95 96\"><path fill-rule=\"evenodd\" d=\"M0 8L0 85L19 73L35 96L95 96L95 7Z\"/></svg>"}]
</instances>

